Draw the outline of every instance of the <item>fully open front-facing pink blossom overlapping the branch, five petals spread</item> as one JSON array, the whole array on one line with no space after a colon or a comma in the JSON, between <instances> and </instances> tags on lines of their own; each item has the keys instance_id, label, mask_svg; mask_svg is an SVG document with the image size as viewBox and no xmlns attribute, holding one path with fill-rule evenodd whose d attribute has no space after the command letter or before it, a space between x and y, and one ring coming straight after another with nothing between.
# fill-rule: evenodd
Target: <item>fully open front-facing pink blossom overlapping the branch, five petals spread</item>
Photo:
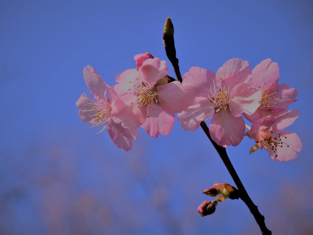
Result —
<instances>
[{"instance_id":1,"label":"fully open front-facing pink blossom overlapping the branch, five petals spread","mask_svg":"<svg viewBox=\"0 0 313 235\"><path fill-rule=\"evenodd\" d=\"M261 92L250 82L247 61L231 59L215 74L192 67L183 75L183 85L195 89L195 100L178 115L184 130L198 129L201 121L212 118L209 131L220 146L238 145L245 135L241 114L251 115L259 107Z\"/></svg>"}]
</instances>

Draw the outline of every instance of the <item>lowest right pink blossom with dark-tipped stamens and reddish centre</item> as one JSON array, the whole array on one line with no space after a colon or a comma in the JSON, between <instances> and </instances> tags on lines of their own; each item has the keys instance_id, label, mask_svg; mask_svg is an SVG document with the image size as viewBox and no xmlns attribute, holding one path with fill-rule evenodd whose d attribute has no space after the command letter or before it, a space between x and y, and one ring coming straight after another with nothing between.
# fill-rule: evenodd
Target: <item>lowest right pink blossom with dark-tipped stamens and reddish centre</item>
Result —
<instances>
[{"instance_id":1,"label":"lowest right pink blossom with dark-tipped stamens and reddish centre","mask_svg":"<svg viewBox=\"0 0 313 235\"><path fill-rule=\"evenodd\" d=\"M290 110L275 118L260 118L253 123L251 129L247 127L249 131L246 135L256 142L250 149L250 154L261 147L274 161L286 162L295 159L296 152L302 149L301 140L297 134L282 130L291 125L299 115L298 110Z\"/></svg>"}]
</instances>

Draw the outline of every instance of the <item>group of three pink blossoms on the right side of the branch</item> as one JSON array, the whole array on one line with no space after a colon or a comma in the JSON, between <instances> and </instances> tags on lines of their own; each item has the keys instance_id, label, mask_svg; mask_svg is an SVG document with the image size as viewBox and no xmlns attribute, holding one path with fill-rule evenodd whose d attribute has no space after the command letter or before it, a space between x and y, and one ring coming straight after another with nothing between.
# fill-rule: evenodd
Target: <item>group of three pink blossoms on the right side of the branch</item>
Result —
<instances>
[{"instance_id":1,"label":"group of three pink blossoms on the right side of the branch","mask_svg":"<svg viewBox=\"0 0 313 235\"><path fill-rule=\"evenodd\" d=\"M217 73L192 67L183 75L183 85L195 89L194 102L178 115L184 130L198 129L201 121L212 118L209 132L213 141L226 147L237 146L245 136L255 140L250 154L261 147L279 162L297 157L302 143L295 133L282 131L300 115L287 111L297 92L278 84L278 64L266 59L252 71L247 61L228 60ZM244 118L252 122L251 128Z\"/></svg>"}]
</instances>

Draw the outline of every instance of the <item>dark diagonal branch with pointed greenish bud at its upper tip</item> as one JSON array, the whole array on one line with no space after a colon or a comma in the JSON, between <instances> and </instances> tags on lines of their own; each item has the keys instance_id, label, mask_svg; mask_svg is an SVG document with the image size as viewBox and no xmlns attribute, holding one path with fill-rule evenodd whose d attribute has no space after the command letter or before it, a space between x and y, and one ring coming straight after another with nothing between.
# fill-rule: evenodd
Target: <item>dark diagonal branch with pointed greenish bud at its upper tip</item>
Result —
<instances>
[{"instance_id":1,"label":"dark diagonal branch with pointed greenish bud at its upper tip","mask_svg":"<svg viewBox=\"0 0 313 235\"><path fill-rule=\"evenodd\" d=\"M164 32L163 32L163 44L165 47L166 55L168 59L171 61L174 71L176 73L177 79L182 82L181 74L179 71L179 65L178 65L178 59L176 58L176 49L175 49L175 43L174 43L174 26L172 24L172 21L170 18L167 18L164 25ZM258 207L254 205L251 198L249 197L248 193L246 192L246 189L244 185L242 184L239 176L237 175L237 172L233 165L231 164L228 155L226 153L226 149L222 146L219 146L216 142L214 142L210 136L209 128L205 124L204 121L201 121L201 127L206 134L206 136L209 138L209 140L212 142L213 146L215 147L216 151L220 155L223 163L225 164L229 174L231 175L232 179L234 180L238 190L240 191L240 198L246 203L246 206L249 208L250 212L255 218L255 221L260 227L262 235L271 235L271 231L268 230L268 228L265 225L265 218L258 210Z\"/></svg>"}]
</instances>

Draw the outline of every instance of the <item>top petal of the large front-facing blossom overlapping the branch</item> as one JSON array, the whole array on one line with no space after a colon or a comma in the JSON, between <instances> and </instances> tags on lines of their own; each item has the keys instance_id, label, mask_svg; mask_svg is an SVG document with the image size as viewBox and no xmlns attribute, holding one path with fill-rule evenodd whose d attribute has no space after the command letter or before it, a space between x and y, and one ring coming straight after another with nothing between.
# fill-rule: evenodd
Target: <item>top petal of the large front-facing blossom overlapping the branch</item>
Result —
<instances>
[{"instance_id":1,"label":"top petal of the large front-facing blossom overlapping the branch","mask_svg":"<svg viewBox=\"0 0 313 235\"><path fill-rule=\"evenodd\" d=\"M220 82L220 78L230 88L239 83L249 83L251 79L251 70L249 63L241 59L230 59L216 73L216 81Z\"/></svg>"}]
</instances>

